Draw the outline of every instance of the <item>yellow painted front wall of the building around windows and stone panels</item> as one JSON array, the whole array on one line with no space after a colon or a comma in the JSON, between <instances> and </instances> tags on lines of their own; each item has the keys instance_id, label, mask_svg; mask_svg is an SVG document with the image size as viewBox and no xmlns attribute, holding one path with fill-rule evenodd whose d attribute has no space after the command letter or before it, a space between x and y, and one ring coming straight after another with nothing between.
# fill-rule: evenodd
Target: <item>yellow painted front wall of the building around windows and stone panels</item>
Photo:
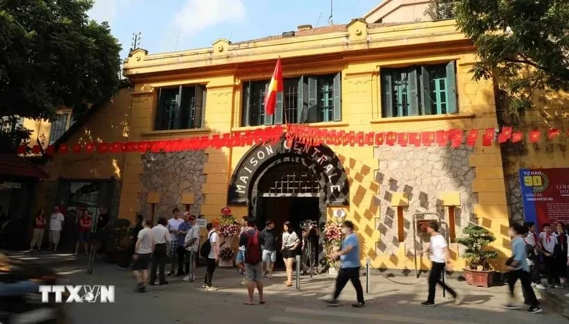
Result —
<instances>
[{"instance_id":1,"label":"yellow painted front wall of the building around windows and stone panels","mask_svg":"<svg viewBox=\"0 0 569 324\"><path fill-rule=\"evenodd\" d=\"M369 28L368 28L369 27ZM436 46L434 45L436 44ZM135 83L133 114L130 119L132 140L172 139L210 133L228 133L248 130L240 126L241 83L251 79L269 79L275 60L283 59L283 74L342 73L342 121L314 123L311 126L354 131L426 131L448 128L496 127L493 86L474 82L468 70L475 62L473 46L458 33L453 21L405 24L400 26L368 26L355 20L345 31L304 37L276 38L264 41L230 44L218 40L210 49L148 55L144 50L131 53L124 73ZM382 67L403 67L423 63L457 60L457 91L459 113L428 117L383 119L380 116L381 98L378 72ZM205 128L198 130L153 131L156 105L155 88L164 85L207 83ZM350 182L351 205L345 210L347 218L355 221L362 239L364 255L371 257L373 266L409 268L412 257L400 246L395 255L380 255L374 248L379 232L374 217L380 214L373 203L379 192L374 174L378 160L373 148L331 146L343 162ZM231 173L247 148L207 150L203 187L205 203L201 214L207 219L219 216L227 201ZM476 178L473 189L478 204L473 208L479 223L491 229L498 238L493 246L509 254L507 237L508 212L504 186L502 159L498 145L477 143L470 158ZM121 216L130 215L138 208L142 173L140 155L126 155L121 193ZM336 208L328 208L332 215ZM246 207L232 206L234 216L244 216ZM457 232L460 236L460 233ZM457 256L456 244L451 246ZM497 262L502 264L501 261ZM421 262L425 267L427 262ZM458 266L464 260L458 259Z\"/></svg>"}]
</instances>

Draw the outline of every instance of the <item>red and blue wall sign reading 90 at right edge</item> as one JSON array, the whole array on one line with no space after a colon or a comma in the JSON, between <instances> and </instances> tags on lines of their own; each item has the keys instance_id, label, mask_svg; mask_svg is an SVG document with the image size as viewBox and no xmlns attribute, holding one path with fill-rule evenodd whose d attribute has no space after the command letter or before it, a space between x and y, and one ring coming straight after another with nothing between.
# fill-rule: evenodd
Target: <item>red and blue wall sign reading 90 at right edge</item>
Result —
<instances>
[{"instance_id":1,"label":"red and blue wall sign reading 90 at right edge","mask_svg":"<svg viewBox=\"0 0 569 324\"><path fill-rule=\"evenodd\" d=\"M520 169L526 221L569 222L569 169Z\"/></svg>"}]
</instances>

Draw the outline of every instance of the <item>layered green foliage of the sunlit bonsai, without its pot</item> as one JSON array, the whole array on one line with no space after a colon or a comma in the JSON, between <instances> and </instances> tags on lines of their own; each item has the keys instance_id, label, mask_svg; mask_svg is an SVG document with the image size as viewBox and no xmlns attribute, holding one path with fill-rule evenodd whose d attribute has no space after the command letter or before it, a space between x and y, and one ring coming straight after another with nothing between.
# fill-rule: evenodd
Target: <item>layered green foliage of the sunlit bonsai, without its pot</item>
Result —
<instances>
[{"instance_id":1,"label":"layered green foliage of the sunlit bonsai, without its pot","mask_svg":"<svg viewBox=\"0 0 569 324\"><path fill-rule=\"evenodd\" d=\"M498 257L497 251L487 250L487 246L496 238L489 230L479 225L468 225L462 230L464 237L457 239L459 244L466 246L464 258L468 261L468 267L472 270L491 270L490 262Z\"/></svg>"}]
</instances>

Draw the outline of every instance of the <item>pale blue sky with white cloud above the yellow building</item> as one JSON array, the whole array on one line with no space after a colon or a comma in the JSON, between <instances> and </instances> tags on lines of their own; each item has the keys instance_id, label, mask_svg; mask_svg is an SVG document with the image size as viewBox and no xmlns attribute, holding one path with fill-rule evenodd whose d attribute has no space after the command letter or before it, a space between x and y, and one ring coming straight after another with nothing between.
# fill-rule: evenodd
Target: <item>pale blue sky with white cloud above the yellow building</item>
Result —
<instances>
[{"instance_id":1,"label":"pale blue sky with white cloud above the yellow building","mask_svg":"<svg viewBox=\"0 0 569 324\"><path fill-rule=\"evenodd\" d=\"M334 24L363 17L381 2L333 1ZM95 0L88 14L110 24L126 58L133 33L142 33L139 47L153 54L210 47L219 38L280 35L302 24L328 26L330 0Z\"/></svg>"}]
</instances>

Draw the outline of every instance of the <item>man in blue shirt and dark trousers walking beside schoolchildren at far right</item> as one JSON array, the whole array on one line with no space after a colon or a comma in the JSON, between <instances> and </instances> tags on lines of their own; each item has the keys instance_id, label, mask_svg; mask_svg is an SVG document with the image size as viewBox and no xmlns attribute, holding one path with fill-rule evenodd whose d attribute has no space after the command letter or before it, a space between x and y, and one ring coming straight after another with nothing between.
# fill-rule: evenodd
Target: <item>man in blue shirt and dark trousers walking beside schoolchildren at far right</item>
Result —
<instances>
[{"instance_id":1,"label":"man in blue shirt and dark trousers walking beside schoolchildren at far right","mask_svg":"<svg viewBox=\"0 0 569 324\"><path fill-rule=\"evenodd\" d=\"M529 266L527 265L525 246L526 243L523 237L527 235L527 228L522 225L513 224L510 227L511 240L511 252L512 257L508 259L507 266L509 270L508 275L508 286L510 289L511 300L506 305L500 305L507 309L517 309L518 306L513 304L513 286L516 284L518 279L522 282L522 289L526 302L529 304L527 309L528 313L539 313L541 312L541 307L539 307L539 302L537 301L534 289L532 289L531 275L529 275Z\"/></svg>"}]
</instances>

